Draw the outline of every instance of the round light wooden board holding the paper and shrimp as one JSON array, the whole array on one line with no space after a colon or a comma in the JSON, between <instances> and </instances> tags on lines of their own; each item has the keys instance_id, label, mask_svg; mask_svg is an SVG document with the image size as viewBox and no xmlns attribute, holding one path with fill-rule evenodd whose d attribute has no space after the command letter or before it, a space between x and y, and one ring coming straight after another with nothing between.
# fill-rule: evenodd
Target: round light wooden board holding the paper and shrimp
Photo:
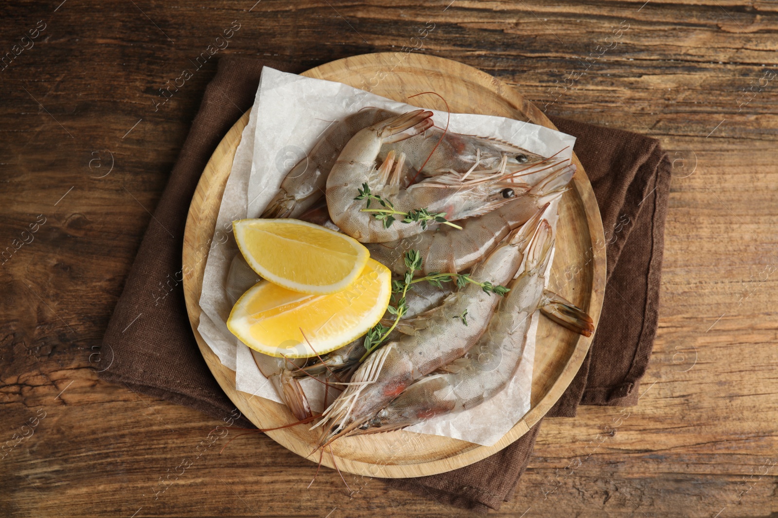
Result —
<instances>
[{"instance_id":1,"label":"round light wooden board holding the paper and shrimp","mask_svg":"<svg viewBox=\"0 0 778 518\"><path fill-rule=\"evenodd\" d=\"M408 100L408 96L416 93L437 92L447 99L452 112L504 116L555 129L536 106L509 85L485 72L440 57L364 54L312 68L303 75L343 82L415 106L445 110L436 96ZM226 134L206 165L192 198L184 234L183 263L191 268L189 275L184 276L184 294L192 329L216 380L251 422L267 429L295 419L285 405L236 391L234 371L219 361L197 331L200 316L198 301L205 270L202 252L198 258L198 251L207 250L212 238L224 186L247 121L248 113L245 113ZM605 247L601 245L605 239L589 179L575 155L573 162L578 170L573 188L564 194L559 207L556 252L549 287L584 308L596 325L605 291ZM548 412L573 380L590 343L591 339L541 318L534 357L531 409L493 446L402 430L343 437L332 445L338 468L356 475L419 477L462 468L489 457L524 435ZM296 454L316 462L319 456L310 454L318 434L317 430L310 432L308 428L305 425L293 426L268 432L268 436ZM335 466L329 451L322 457L322 463L331 468Z\"/></svg>"}]
</instances>

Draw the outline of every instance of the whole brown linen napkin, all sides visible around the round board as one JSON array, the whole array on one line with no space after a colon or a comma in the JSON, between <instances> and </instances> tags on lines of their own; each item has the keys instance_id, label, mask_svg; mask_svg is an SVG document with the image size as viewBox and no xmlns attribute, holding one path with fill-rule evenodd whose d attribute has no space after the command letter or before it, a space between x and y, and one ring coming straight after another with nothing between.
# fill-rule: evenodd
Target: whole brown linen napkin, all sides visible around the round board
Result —
<instances>
[{"instance_id":1,"label":"whole brown linen napkin, all sides visible around the round board","mask_svg":"<svg viewBox=\"0 0 778 518\"><path fill-rule=\"evenodd\" d=\"M187 207L205 163L253 104L263 64L303 70L269 59L219 61L103 339L103 360L110 358L110 349L113 363L101 378L217 419L228 417L234 405L206 367L189 326L179 281L182 239ZM607 247L608 284L584 366L548 415L575 415L579 404L634 405L657 329L670 164L654 139L556 117L552 121L578 137L576 153L591 179L605 226L608 244L600 245ZM509 447L465 468L386 480L464 509L499 509L513 495L539 429L540 422Z\"/></svg>"}]
</instances>

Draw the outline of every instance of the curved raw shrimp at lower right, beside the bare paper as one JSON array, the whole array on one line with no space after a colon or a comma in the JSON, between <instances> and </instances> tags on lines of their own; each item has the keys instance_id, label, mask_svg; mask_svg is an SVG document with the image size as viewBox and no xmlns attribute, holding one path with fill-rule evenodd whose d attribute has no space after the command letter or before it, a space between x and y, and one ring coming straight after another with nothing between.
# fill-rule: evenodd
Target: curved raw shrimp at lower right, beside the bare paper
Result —
<instances>
[{"instance_id":1,"label":"curved raw shrimp at lower right, beside the bare paper","mask_svg":"<svg viewBox=\"0 0 778 518\"><path fill-rule=\"evenodd\" d=\"M524 356L524 346L535 310L549 300L544 290L545 272L554 239L543 221L527 248L524 271L510 286L499 309L482 335L465 356L429 374L406 388L398 398L349 435L386 432L422 422L434 415L461 412L494 397L513 379ZM571 308L588 329L591 318Z\"/></svg>"}]
</instances>

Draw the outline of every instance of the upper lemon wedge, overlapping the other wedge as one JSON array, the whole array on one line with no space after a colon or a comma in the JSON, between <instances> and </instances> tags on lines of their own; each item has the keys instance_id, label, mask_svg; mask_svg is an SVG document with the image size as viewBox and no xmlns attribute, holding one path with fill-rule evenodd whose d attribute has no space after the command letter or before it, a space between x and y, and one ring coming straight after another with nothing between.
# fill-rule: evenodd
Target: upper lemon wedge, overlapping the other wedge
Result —
<instances>
[{"instance_id":1,"label":"upper lemon wedge, overlapping the other wedge","mask_svg":"<svg viewBox=\"0 0 778 518\"><path fill-rule=\"evenodd\" d=\"M233 229L255 272L304 294L345 290L370 258L356 239L306 221L246 219L233 221Z\"/></svg>"}]
</instances>

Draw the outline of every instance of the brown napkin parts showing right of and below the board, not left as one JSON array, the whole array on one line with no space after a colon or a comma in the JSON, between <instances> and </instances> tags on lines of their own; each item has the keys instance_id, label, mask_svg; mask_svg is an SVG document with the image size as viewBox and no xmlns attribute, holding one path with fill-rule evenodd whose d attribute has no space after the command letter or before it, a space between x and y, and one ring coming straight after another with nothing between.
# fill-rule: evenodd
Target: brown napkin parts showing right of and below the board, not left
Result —
<instances>
[{"instance_id":1,"label":"brown napkin parts showing right of and below the board, not left","mask_svg":"<svg viewBox=\"0 0 778 518\"><path fill-rule=\"evenodd\" d=\"M589 353L546 417L573 417L578 405L636 405L657 332L664 218L671 164L653 138L561 117L597 198L608 256L605 301ZM571 272L573 273L573 272ZM387 480L390 485L486 513L513 495L541 422L488 457L440 475Z\"/></svg>"}]
</instances>

